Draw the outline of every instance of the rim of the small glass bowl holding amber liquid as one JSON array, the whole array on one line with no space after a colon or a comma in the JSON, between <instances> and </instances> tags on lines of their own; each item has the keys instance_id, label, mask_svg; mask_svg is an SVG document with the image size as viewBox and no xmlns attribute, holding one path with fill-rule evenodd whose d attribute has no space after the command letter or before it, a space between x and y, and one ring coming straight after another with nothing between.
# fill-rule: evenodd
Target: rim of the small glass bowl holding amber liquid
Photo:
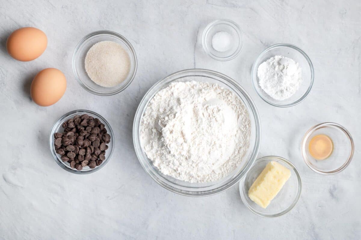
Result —
<instances>
[{"instance_id":1,"label":"rim of the small glass bowl holding amber liquid","mask_svg":"<svg viewBox=\"0 0 361 240\"><path fill-rule=\"evenodd\" d=\"M307 157L307 154L306 154L306 142L307 142L307 140L309 139L309 137L311 136L311 134L314 131L318 130L319 128L323 128L323 127L335 127L335 128L338 128L343 133L345 133L345 135L347 136L348 140L350 141L350 145L351 145L351 152L350 152L349 157L346 159L346 161L339 168L337 168L335 170L332 170L332 171L322 171L322 170L319 170L317 168L314 168L310 164L310 162L308 160L308 157ZM347 129L344 126L342 126L342 125L340 125L338 123L334 123L334 122L319 123L319 124L311 127L305 133L305 135L302 138L302 142L301 142L301 154L302 154L302 158L303 158L304 162L306 163L306 165L310 169L312 169L312 171L317 172L317 173L322 174L322 175L332 175L332 174L336 174L336 173L339 173L339 172L343 171L351 163L354 151L355 151L355 145L353 143L353 139L352 139L352 136L349 133L349 131L347 131Z\"/></svg>"}]
</instances>

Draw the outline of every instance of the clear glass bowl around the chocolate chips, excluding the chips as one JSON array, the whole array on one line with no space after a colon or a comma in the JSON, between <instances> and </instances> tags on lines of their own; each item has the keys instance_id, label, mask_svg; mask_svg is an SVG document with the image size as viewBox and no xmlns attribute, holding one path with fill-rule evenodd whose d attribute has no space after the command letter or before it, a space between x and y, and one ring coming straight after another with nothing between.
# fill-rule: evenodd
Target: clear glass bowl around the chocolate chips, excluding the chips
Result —
<instances>
[{"instance_id":1,"label":"clear glass bowl around the chocolate chips, excluding the chips","mask_svg":"<svg viewBox=\"0 0 361 240\"><path fill-rule=\"evenodd\" d=\"M76 115L82 115L82 114L88 114L89 116L92 116L93 118L99 118L100 122L104 123L106 130L108 131L108 134L110 135L110 142L107 144L109 148L106 150L105 153L105 160L102 164L99 166L96 166L95 168L91 169L90 167L86 166L83 167L82 170L77 170L75 168L71 168L70 164L68 162L63 162L60 159L60 155L56 153L55 146L54 146L54 133L56 132L64 132L64 128L62 127L62 124L64 121L68 120L69 118L73 118ZM53 156L55 162L59 164L60 167L65 169L68 172L71 173L77 173L77 174L87 174L98 171L100 168L104 167L106 163L109 162L109 159L112 157L113 150L114 150L114 133L112 128L110 127L109 123L99 114L89 111L89 110L74 110L69 113L64 114L61 116L53 125L50 134L49 134L49 148L51 155Z\"/></svg>"}]
</instances>

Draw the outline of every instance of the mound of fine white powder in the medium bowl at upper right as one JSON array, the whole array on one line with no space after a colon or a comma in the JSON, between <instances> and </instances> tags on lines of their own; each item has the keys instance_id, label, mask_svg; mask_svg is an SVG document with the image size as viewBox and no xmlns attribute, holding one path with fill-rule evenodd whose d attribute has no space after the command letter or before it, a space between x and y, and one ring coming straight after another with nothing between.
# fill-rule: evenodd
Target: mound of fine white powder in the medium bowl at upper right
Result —
<instances>
[{"instance_id":1,"label":"mound of fine white powder in the medium bowl at upper right","mask_svg":"<svg viewBox=\"0 0 361 240\"><path fill-rule=\"evenodd\" d=\"M291 58L274 56L258 67L262 90L276 100L290 98L302 83L301 67Z\"/></svg>"}]
</instances>

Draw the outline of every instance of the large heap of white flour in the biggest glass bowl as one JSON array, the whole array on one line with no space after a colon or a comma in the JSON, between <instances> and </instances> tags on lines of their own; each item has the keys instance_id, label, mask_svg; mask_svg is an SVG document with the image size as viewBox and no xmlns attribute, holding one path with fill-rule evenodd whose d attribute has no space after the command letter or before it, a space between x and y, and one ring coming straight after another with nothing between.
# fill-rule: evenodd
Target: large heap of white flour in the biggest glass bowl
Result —
<instances>
[{"instance_id":1,"label":"large heap of white flour in the biggest glass bowl","mask_svg":"<svg viewBox=\"0 0 361 240\"><path fill-rule=\"evenodd\" d=\"M142 147L163 173L188 182L211 182L236 169L249 146L243 101L209 82L174 82L145 109Z\"/></svg>"}]
</instances>

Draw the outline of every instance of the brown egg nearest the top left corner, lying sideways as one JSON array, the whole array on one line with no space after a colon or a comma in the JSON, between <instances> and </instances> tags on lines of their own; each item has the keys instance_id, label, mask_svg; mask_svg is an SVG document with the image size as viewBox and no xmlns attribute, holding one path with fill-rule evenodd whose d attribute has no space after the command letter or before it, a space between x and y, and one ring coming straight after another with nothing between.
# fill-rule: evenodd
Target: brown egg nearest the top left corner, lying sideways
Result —
<instances>
[{"instance_id":1,"label":"brown egg nearest the top left corner, lying sideways","mask_svg":"<svg viewBox=\"0 0 361 240\"><path fill-rule=\"evenodd\" d=\"M26 62L42 55L47 44L48 39L43 31L34 27L24 27L8 37L6 49L16 60Z\"/></svg>"}]
</instances>

